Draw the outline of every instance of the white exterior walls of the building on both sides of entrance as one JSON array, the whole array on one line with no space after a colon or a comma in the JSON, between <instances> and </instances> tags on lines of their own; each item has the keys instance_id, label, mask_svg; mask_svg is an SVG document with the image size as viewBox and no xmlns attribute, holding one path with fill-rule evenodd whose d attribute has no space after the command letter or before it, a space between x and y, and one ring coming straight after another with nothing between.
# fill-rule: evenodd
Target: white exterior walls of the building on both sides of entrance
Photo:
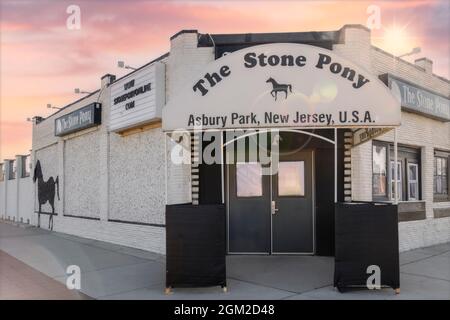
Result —
<instances>
[{"instance_id":1,"label":"white exterior walls of the building on both sides of entrance","mask_svg":"<svg viewBox=\"0 0 450 320\"><path fill-rule=\"evenodd\" d=\"M341 35L340 43L334 45L333 50L362 68L367 69L368 72L375 74L389 72L432 91L446 96L449 95L448 82L430 73L425 73L425 70L418 66L394 59L382 50L372 47L370 32L364 27L346 26L342 29ZM166 63L166 101L169 101L186 83L189 83L189 79L196 76L205 64L214 60L214 48L197 47L197 36L197 33L182 33L171 40L170 55L162 60L163 63ZM67 138L63 140L54 136L53 127L56 117L97 100L103 105L103 123L99 128L88 129L71 135L68 137L69 140ZM160 129L153 129L128 138L110 134L108 132L108 106L109 88L105 87L100 93L74 103L72 106L33 127L33 158L40 158L46 162L45 178L50 175L59 175L60 177L60 194L63 200L57 204L59 215L55 217L54 230L164 253L164 227L110 222L108 219L115 217L120 218L120 220L163 224L165 221L165 201L168 203L184 203L192 200L190 165L174 165L170 162L170 153L174 143L162 134ZM73 139L73 141L70 139ZM90 151L95 150L94 152L96 153L95 161L98 161L95 166L96 170L94 170L96 172L91 172L86 168L89 161L83 161L86 158L82 157L89 158L89 152L84 153L83 148L80 146L80 144L83 144L83 140L85 141L84 144L90 145L91 142L89 141L91 139L95 140L92 141L95 148ZM392 141L392 132L379 139ZM127 144L125 141L135 141L136 143ZM140 143L146 145L141 147ZM189 149L189 141L187 140L185 143L187 143L185 147ZM416 146L422 150L422 191L426 201L427 213L426 220L402 222L399 224L400 249L408 250L450 241L450 218L433 218L433 208L450 207L450 203L434 203L432 195L433 149L450 150L449 124L403 112L403 122L399 128L399 143ZM131 149L125 148L125 150L124 144L128 146L133 145L133 147ZM86 148L89 148L89 146L86 146ZM167 152L166 155L164 155L164 149ZM94 192L95 196L92 196L92 194L92 197L87 196L86 190L79 191L80 194L78 195L77 190L82 189L82 184L75 184L75 189L68 188L68 190L65 190L65 184L71 183L70 181L74 179L73 175L77 172L72 170L77 162L73 158L77 152L80 153L81 158L79 162L83 166L81 171L84 174L88 171L91 172L98 180L95 182L95 188L98 189L98 193ZM117 154L115 154L117 152L121 153L118 158ZM154 152L154 155L149 155L152 152ZM130 159L133 157L134 160L138 161L127 161L127 156ZM164 167L162 163L164 156L169 160L167 167ZM71 157L71 159L65 159L65 157ZM351 160L352 198L353 200L371 200L371 143L353 148ZM112 177L118 170L121 170L121 165L126 166L127 164L132 165L133 170L153 170L151 172L146 171L142 179L138 179L138 175L132 175L134 180L138 180L137 187L142 189L142 192L136 199L129 197L134 199L133 205L130 205L130 203L126 204L126 201L117 203L118 197L126 198L129 192L133 192L133 186L130 184L117 185L120 183L120 179L127 179L127 177L121 176L119 181ZM66 182L64 181L65 175L71 175ZM167 185L165 185L166 177L168 178ZM74 192L75 194L67 196L64 195L65 192ZM146 197L146 192L151 193L148 198ZM0 195L1 193L5 194L4 183L0 183ZM111 199L111 196L115 197L114 201L116 202ZM77 198L88 199L88 204L74 208L73 200ZM65 202L64 199L69 201ZM139 207L140 204L141 206ZM67 205L70 208L66 207ZM137 207L135 208L134 205ZM132 207L133 210L127 211L124 209L125 207ZM0 204L0 210L7 210L5 203ZM76 211L80 211L78 215L93 215L98 217L99 220L63 217L63 213L70 212L73 214ZM136 213L134 214L133 212ZM33 217L35 217L34 214ZM43 217L43 226L46 225L47 218L47 216Z\"/></svg>"}]
</instances>

